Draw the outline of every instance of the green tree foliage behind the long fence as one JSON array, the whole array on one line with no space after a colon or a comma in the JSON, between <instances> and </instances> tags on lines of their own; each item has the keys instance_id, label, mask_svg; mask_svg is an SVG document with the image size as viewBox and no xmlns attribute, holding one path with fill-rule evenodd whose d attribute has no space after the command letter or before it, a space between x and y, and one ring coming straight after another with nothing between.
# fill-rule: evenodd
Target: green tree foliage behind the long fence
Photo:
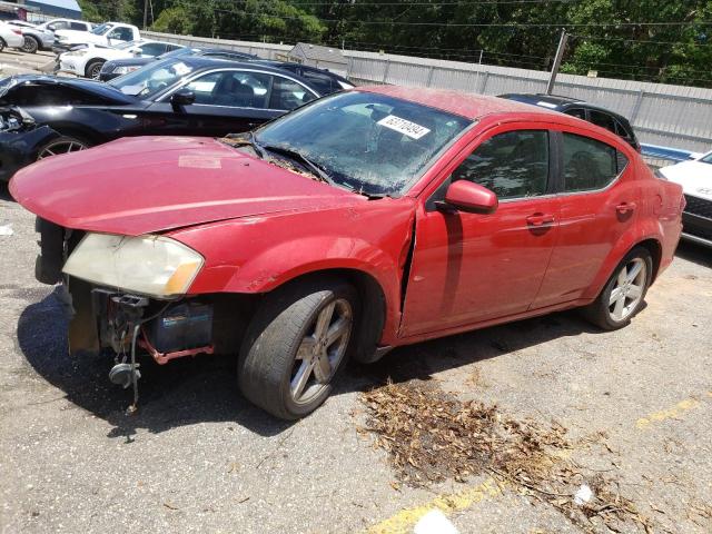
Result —
<instances>
[{"instance_id":1,"label":"green tree foliage behind the long fence","mask_svg":"<svg viewBox=\"0 0 712 534\"><path fill-rule=\"evenodd\" d=\"M142 22L144 0L80 0L91 19ZM712 87L712 0L152 0L160 31L309 41L547 70ZM149 23L151 18L149 17Z\"/></svg>"}]
</instances>

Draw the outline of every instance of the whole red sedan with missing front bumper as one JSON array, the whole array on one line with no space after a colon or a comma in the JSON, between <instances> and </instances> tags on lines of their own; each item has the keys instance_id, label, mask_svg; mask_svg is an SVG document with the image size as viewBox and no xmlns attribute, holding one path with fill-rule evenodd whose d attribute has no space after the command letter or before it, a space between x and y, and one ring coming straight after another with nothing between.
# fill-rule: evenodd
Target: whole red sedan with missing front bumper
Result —
<instances>
[{"instance_id":1,"label":"whole red sedan with missing front bumper","mask_svg":"<svg viewBox=\"0 0 712 534\"><path fill-rule=\"evenodd\" d=\"M672 261L682 189L613 134L497 98L398 87L319 99L233 139L148 137L44 159L40 280L72 352L237 354L297 418L350 355L581 307L626 325ZM109 362L109 360L108 360Z\"/></svg>"}]
</instances>

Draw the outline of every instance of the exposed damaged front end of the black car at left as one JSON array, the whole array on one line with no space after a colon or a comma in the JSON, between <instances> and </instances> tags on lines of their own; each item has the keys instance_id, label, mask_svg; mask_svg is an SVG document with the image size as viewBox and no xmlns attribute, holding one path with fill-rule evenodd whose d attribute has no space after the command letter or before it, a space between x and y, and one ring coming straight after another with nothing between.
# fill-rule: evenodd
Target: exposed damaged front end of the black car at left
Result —
<instances>
[{"instance_id":1,"label":"exposed damaged front end of the black car at left","mask_svg":"<svg viewBox=\"0 0 712 534\"><path fill-rule=\"evenodd\" d=\"M37 160L39 150L61 137L49 126L38 126L16 106L0 107L0 181Z\"/></svg>"}]
</instances>

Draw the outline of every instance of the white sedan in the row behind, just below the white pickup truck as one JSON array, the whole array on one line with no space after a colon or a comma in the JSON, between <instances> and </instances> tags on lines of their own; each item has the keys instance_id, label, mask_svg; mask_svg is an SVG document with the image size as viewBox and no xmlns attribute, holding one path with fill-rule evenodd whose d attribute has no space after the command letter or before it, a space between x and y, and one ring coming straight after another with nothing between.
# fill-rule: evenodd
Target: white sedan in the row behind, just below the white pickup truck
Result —
<instances>
[{"instance_id":1,"label":"white sedan in the row behind, just below the white pickup truck","mask_svg":"<svg viewBox=\"0 0 712 534\"><path fill-rule=\"evenodd\" d=\"M59 71L99 79L101 67L109 60L134 57L152 58L164 53L169 44L168 42L145 39L125 42L118 47L89 44L86 48L62 53L59 57Z\"/></svg>"}]
</instances>

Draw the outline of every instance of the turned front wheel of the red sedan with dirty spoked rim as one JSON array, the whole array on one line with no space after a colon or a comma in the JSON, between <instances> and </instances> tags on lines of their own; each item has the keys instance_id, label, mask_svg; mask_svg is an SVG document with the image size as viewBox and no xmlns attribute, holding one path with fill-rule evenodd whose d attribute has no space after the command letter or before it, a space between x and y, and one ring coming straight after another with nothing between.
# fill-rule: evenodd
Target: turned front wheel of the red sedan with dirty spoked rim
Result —
<instances>
[{"instance_id":1,"label":"turned front wheel of the red sedan with dirty spoked rim","mask_svg":"<svg viewBox=\"0 0 712 534\"><path fill-rule=\"evenodd\" d=\"M332 393L353 345L356 290L340 280L295 283L267 295L238 364L243 394L281 419L298 419Z\"/></svg>"}]
</instances>

